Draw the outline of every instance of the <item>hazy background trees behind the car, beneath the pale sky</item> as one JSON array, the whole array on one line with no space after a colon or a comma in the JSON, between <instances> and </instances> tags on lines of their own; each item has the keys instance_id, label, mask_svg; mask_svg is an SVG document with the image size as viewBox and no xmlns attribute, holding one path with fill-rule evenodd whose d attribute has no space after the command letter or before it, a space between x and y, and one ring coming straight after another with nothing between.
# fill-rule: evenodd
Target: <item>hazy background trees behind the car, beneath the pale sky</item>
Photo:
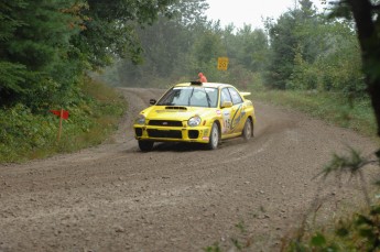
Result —
<instances>
[{"instance_id":1,"label":"hazy background trees behind the car, beneath the pale sky","mask_svg":"<svg viewBox=\"0 0 380 252\"><path fill-rule=\"evenodd\" d=\"M300 1L265 30L250 25L221 28L204 15L207 4L181 1L171 20L161 15L152 26L137 30L143 61L120 59L104 78L115 86L165 86L197 78L234 83L263 81L268 88L344 91L365 95L359 43L350 21L327 19L310 0ZM196 10L196 11L195 11ZM194 14L195 13L195 14ZM184 18L186 17L186 18ZM349 52L349 53L347 53ZM217 58L228 57L227 72ZM262 78L261 78L262 76Z\"/></svg>"}]
</instances>

